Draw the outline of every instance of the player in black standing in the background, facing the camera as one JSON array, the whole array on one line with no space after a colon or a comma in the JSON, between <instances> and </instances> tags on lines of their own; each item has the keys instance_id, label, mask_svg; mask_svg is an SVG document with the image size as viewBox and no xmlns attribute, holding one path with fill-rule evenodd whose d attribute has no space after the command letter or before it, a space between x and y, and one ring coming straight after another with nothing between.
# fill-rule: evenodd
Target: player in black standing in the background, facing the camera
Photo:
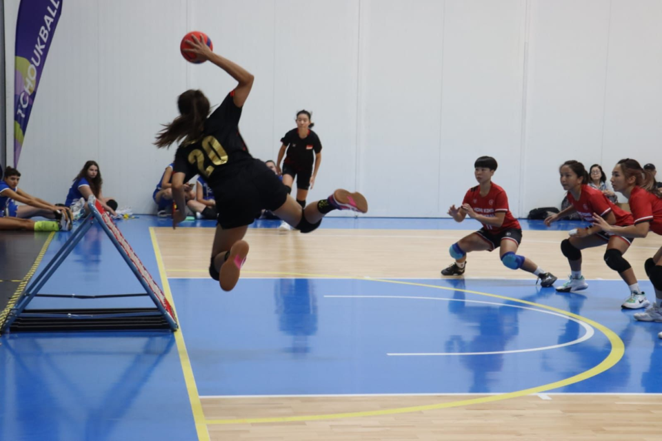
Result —
<instances>
[{"instance_id":1,"label":"player in black standing in the background, facing the camera","mask_svg":"<svg viewBox=\"0 0 662 441\"><path fill-rule=\"evenodd\" d=\"M283 184L288 187L288 191L292 191L294 177L297 178L297 202L301 207L305 207L308 189L312 189L322 161L322 143L319 141L317 133L310 130L315 125L310 122L310 117L311 114L308 110L297 112L297 128L290 130L281 138L283 144L276 161L276 170L278 174L283 174ZM285 163L281 170L285 150L287 150L287 156L285 156Z\"/></svg>"}]
</instances>

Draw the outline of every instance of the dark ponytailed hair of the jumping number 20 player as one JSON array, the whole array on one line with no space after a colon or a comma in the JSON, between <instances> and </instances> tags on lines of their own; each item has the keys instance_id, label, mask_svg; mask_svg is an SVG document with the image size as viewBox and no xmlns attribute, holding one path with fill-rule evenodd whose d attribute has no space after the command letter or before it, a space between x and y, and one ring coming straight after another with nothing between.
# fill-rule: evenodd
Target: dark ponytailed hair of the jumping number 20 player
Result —
<instances>
[{"instance_id":1,"label":"dark ponytailed hair of the jumping number 20 player","mask_svg":"<svg viewBox=\"0 0 662 441\"><path fill-rule=\"evenodd\" d=\"M164 124L163 130L157 134L157 147L168 147L170 144L199 139L205 128L205 120L209 115L209 100L201 90L187 90L177 99L179 116L172 123Z\"/></svg>"}]
</instances>

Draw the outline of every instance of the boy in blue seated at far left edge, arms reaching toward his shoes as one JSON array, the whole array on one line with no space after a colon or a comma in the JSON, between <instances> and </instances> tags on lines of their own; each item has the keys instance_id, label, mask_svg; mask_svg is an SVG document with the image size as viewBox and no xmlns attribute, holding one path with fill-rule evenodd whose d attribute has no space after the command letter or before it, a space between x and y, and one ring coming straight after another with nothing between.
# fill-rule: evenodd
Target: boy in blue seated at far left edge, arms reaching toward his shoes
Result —
<instances>
[{"instance_id":1,"label":"boy in blue seated at far left edge, arms reaching toward his shoes","mask_svg":"<svg viewBox=\"0 0 662 441\"><path fill-rule=\"evenodd\" d=\"M7 167L5 176L0 180L0 230L23 229L28 231L69 231L71 214L65 207L56 207L46 201L23 192L18 188L21 173ZM17 206L14 201L26 205ZM28 219L32 216L57 219L57 221Z\"/></svg>"}]
</instances>

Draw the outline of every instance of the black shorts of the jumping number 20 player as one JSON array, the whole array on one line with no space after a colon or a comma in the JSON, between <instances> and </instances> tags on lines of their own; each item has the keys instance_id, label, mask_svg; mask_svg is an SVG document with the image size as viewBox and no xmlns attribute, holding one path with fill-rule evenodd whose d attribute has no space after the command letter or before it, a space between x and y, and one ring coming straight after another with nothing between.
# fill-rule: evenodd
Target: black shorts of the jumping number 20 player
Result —
<instances>
[{"instance_id":1,"label":"black shorts of the jumping number 20 player","mask_svg":"<svg viewBox=\"0 0 662 441\"><path fill-rule=\"evenodd\" d=\"M263 209L274 211L288 198L288 189L259 159L237 167L212 187L221 228L250 225Z\"/></svg>"}]
</instances>

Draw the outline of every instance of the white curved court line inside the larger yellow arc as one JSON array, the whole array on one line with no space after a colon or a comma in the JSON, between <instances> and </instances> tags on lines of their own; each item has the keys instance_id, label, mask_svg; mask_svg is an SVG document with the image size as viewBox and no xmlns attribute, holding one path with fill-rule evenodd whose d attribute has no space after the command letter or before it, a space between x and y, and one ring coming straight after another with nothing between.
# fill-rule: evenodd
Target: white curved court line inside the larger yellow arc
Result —
<instances>
[{"instance_id":1,"label":"white curved court line inside the larger yellow arc","mask_svg":"<svg viewBox=\"0 0 662 441\"><path fill-rule=\"evenodd\" d=\"M485 302L483 300L463 300L458 298L438 298L438 297L418 297L418 296L324 296L326 298L406 298L406 299L416 299L416 300L445 300L448 302L467 302L467 303L481 303L483 305L496 305L499 307L513 307L519 309L529 309L530 311L542 312L543 314L550 314L550 316L558 316L564 318L565 320L571 320L573 322L579 323L581 327L584 328L585 334L576 340L571 342L562 343L561 345L552 345L545 347L534 347L530 349L514 349L512 351L491 351L491 352L410 352L410 353L386 353L387 356L487 356L487 355L496 355L503 353L523 353L523 352L534 352L534 351L548 351L550 349L558 349L560 347L576 345L577 343L584 342L591 338L595 331L592 326L588 323L582 322L581 320L576 320L576 318L568 317L563 314L559 314L553 311L545 311L544 309L537 309L519 305L509 305L508 303L496 303L496 302Z\"/></svg>"}]
</instances>

